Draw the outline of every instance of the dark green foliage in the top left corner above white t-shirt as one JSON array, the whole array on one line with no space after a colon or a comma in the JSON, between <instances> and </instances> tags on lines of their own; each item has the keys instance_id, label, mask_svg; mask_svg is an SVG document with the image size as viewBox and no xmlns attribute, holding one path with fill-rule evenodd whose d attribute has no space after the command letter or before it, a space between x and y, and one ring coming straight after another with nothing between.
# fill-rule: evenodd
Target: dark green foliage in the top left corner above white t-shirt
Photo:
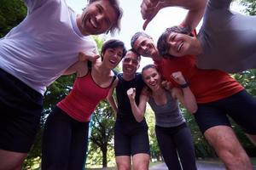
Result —
<instances>
[{"instance_id":1,"label":"dark green foliage in the top left corner above white t-shirt","mask_svg":"<svg viewBox=\"0 0 256 170\"><path fill-rule=\"evenodd\" d=\"M0 37L5 36L26 16L26 6L20 0L0 1Z\"/></svg>"}]
</instances>

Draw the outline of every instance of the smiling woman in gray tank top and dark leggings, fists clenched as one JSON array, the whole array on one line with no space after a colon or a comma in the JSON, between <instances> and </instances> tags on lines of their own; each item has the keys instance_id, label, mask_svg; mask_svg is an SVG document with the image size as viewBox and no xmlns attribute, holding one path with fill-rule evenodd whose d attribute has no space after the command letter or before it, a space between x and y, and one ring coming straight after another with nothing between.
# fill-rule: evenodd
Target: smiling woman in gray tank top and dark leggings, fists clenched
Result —
<instances>
[{"instance_id":1,"label":"smiling woman in gray tank top and dark leggings, fists clenched","mask_svg":"<svg viewBox=\"0 0 256 170\"><path fill-rule=\"evenodd\" d=\"M155 114L155 133L167 167L175 170L196 169L191 132L177 102L179 100L190 113L197 110L189 84L180 71L173 72L172 78L180 84L180 88L171 89L169 82L162 83L155 65L146 65L142 75L148 87L143 89L139 105L135 102L136 89L127 91L137 122L143 121L148 102Z\"/></svg>"}]
</instances>

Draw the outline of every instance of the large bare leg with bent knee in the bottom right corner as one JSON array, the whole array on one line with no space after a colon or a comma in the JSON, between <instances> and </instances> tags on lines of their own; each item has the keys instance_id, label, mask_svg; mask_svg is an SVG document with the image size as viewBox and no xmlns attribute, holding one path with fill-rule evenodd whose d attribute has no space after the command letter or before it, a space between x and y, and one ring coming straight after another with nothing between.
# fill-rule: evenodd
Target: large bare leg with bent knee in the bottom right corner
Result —
<instances>
[{"instance_id":1,"label":"large bare leg with bent knee in the bottom right corner","mask_svg":"<svg viewBox=\"0 0 256 170\"><path fill-rule=\"evenodd\" d=\"M231 127L211 127L207 129L204 136L209 144L212 145L220 159L224 161L224 165L227 169L253 169L247 153L241 147Z\"/></svg>"}]
</instances>

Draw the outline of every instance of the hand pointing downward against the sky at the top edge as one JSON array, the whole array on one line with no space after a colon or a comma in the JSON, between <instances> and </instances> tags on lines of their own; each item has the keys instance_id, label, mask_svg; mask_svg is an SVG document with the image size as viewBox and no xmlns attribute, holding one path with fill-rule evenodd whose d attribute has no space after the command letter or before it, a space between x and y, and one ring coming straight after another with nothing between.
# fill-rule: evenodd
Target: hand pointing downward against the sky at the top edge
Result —
<instances>
[{"instance_id":1,"label":"hand pointing downward against the sky at the top edge","mask_svg":"<svg viewBox=\"0 0 256 170\"><path fill-rule=\"evenodd\" d=\"M143 30L146 29L148 23L154 19L154 16L161 8L162 2L160 0L143 0L143 3L141 4L141 14L143 16L143 20L145 20Z\"/></svg>"}]
</instances>

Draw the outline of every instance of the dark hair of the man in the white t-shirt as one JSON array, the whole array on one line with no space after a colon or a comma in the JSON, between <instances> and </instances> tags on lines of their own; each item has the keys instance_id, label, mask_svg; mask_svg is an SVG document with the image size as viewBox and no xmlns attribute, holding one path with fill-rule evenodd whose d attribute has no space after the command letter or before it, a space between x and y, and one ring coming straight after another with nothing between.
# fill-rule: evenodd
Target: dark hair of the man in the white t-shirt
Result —
<instances>
[{"instance_id":1,"label":"dark hair of the man in the white t-shirt","mask_svg":"<svg viewBox=\"0 0 256 170\"><path fill-rule=\"evenodd\" d=\"M96 1L101 1L101 0L87 0L90 3L94 3ZM106 1L106 0L102 0L102 1ZM115 23L113 23L113 26L110 27L110 29L107 31L110 32L112 35L115 33L115 31L120 31L121 26L120 26L120 20L123 16L123 9L120 8L119 6L119 1L118 0L108 0L108 2L112 5L116 15L117 15L117 20Z\"/></svg>"}]
</instances>

